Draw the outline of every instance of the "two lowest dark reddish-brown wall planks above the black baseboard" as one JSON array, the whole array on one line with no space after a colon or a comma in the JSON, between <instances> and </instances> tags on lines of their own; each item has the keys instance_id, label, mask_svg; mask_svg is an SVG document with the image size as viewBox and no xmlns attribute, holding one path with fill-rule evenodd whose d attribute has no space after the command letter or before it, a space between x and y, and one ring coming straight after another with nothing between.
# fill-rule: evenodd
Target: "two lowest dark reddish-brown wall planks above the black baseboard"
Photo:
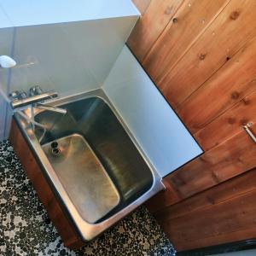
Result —
<instances>
[{"instance_id":1,"label":"two lowest dark reddish-brown wall planks above the black baseboard","mask_svg":"<svg viewBox=\"0 0 256 256\"><path fill-rule=\"evenodd\" d=\"M255 184L254 169L157 212L155 217L177 251L255 238Z\"/></svg>"}]
</instances>

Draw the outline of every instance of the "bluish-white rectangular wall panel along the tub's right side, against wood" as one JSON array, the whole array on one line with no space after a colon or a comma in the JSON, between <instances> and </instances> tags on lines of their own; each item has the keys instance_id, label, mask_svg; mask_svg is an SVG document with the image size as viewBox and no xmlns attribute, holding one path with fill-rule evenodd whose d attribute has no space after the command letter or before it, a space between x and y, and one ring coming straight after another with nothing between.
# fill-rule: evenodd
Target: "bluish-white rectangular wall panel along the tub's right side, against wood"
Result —
<instances>
[{"instance_id":1,"label":"bluish-white rectangular wall panel along the tub's right side, against wood","mask_svg":"<svg viewBox=\"0 0 256 256\"><path fill-rule=\"evenodd\" d=\"M126 46L102 89L161 177L202 153Z\"/></svg>"}]
</instances>

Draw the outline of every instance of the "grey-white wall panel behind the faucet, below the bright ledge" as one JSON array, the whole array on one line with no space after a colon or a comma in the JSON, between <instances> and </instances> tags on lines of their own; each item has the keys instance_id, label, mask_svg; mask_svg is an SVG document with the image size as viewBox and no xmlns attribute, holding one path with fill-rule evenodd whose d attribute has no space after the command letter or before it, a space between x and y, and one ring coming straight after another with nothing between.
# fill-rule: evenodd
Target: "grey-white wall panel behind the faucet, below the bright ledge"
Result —
<instances>
[{"instance_id":1,"label":"grey-white wall panel behind the faucet, below the bright ledge","mask_svg":"<svg viewBox=\"0 0 256 256\"><path fill-rule=\"evenodd\" d=\"M100 88L137 17L15 28L10 90L73 94Z\"/></svg>"}]
</instances>

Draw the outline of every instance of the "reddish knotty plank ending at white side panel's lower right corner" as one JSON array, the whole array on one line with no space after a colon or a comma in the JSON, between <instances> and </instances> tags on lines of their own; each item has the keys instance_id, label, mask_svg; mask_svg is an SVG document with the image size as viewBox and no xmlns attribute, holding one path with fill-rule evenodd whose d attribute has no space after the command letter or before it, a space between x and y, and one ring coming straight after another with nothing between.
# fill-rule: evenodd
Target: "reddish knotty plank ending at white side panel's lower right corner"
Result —
<instances>
[{"instance_id":1,"label":"reddish knotty plank ending at white side panel's lower right corner","mask_svg":"<svg viewBox=\"0 0 256 256\"><path fill-rule=\"evenodd\" d=\"M256 122L256 91L236 103L212 123L195 133L195 139L201 147L208 151L223 143L229 137L241 132L242 126L248 122Z\"/></svg>"}]
</instances>

